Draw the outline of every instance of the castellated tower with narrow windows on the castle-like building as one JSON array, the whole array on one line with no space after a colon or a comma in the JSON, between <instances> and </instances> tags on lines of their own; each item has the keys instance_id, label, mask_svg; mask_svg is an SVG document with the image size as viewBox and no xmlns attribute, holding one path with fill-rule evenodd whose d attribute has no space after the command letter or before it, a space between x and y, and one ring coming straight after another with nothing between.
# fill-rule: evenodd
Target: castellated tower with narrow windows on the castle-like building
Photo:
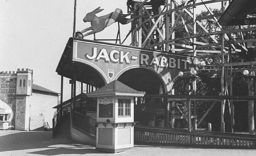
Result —
<instances>
[{"instance_id":1,"label":"castellated tower with narrow windows on the castle-like building","mask_svg":"<svg viewBox=\"0 0 256 156\"><path fill-rule=\"evenodd\" d=\"M33 70L18 69L16 85L16 130L29 130L29 96L32 95Z\"/></svg>"}]
</instances>

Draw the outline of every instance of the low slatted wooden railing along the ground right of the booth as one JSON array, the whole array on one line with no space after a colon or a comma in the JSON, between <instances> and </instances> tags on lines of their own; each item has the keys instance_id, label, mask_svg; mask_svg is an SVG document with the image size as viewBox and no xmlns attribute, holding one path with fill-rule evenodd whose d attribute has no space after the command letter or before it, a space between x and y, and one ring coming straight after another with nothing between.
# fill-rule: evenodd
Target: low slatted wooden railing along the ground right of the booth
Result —
<instances>
[{"instance_id":1,"label":"low slatted wooden railing along the ground right of the booth","mask_svg":"<svg viewBox=\"0 0 256 156\"><path fill-rule=\"evenodd\" d=\"M184 146L256 148L256 135L134 126L134 142Z\"/></svg>"}]
</instances>

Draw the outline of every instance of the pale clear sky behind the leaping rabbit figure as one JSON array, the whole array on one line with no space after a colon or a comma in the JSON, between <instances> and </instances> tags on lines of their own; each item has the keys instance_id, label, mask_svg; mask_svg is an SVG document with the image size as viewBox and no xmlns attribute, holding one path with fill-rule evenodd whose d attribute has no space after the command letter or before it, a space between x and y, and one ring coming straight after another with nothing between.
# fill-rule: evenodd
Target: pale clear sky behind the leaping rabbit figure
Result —
<instances>
[{"instance_id":1,"label":"pale clear sky behind the leaping rabbit figure","mask_svg":"<svg viewBox=\"0 0 256 156\"><path fill-rule=\"evenodd\" d=\"M90 26L86 13L101 6L97 16L116 8L127 12L127 0L77 0L76 31ZM0 71L33 69L33 83L60 93L60 75L55 72L65 44L73 33L74 0L0 0ZM200 9L197 10L200 13ZM130 24L121 26L121 39ZM96 39L114 39L117 23L96 34ZM85 39L93 40L93 35ZM64 78L64 100L71 85Z\"/></svg>"}]
</instances>

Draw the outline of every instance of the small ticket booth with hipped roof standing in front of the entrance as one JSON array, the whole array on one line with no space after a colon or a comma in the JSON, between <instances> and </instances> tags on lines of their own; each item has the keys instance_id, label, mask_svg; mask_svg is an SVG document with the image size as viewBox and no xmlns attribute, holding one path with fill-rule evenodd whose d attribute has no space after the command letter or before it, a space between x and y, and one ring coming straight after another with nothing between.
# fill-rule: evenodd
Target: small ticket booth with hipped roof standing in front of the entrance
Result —
<instances>
[{"instance_id":1,"label":"small ticket booth with hipped roof standing in front of the entrance","mask_svg":"<svg viewBox=\"0 0 256 156\"><path fill-rule=\"evenodd\" d=\"M115 153L134 147L134 97L144 94L117 80L86 94L97 97L96 150Z\"/></svg>"}]
</instances>

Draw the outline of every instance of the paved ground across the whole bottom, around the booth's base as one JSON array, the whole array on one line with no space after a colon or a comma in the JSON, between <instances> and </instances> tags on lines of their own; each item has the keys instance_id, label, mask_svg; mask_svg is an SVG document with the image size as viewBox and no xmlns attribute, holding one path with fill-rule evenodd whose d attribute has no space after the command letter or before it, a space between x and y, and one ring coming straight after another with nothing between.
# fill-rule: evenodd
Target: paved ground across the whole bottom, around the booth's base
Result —
<instances>
[{"instance_id":1,"label":"paved ground across the whole bottom, around the booth's base","mask_svg":"<svg viewBox=\"0 0 256 156\"><path fill-rule=\"evenodd\" d=\"M0 156L256 156L256 149L207 149L135 145L121 153L102 153L95 147L57 138L51 132L0 130Z\"/></svg>"}]
</instances>

